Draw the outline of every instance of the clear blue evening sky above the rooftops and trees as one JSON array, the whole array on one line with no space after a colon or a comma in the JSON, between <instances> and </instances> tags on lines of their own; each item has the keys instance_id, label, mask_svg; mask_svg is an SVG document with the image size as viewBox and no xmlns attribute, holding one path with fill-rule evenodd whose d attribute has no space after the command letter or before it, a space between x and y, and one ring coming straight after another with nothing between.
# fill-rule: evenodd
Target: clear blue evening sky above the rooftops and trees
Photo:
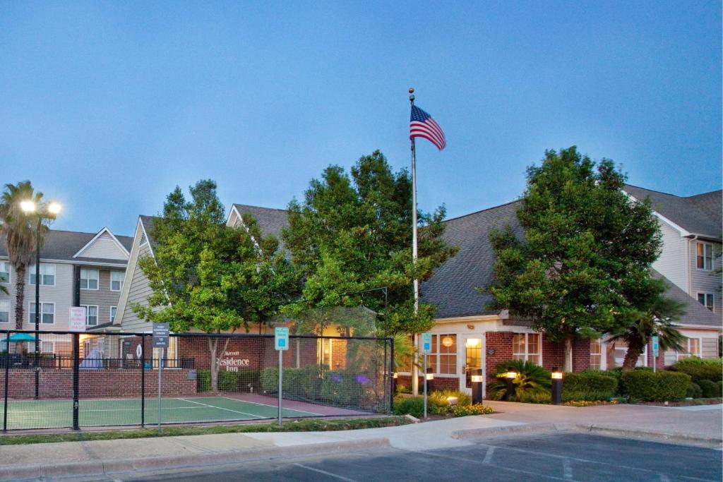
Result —
<instances>
[{"instance_id":1,"label":"clear blue evening sky above the rooftops and trees","mask_svg":"<svg viewBox=\"0 0 723 482\"><path fill-rule=\"evenodd\" d=\"M325 166L409 165L407 88L447 134L418 142L420 207L515 199L578 147L630 183L721 187L719 1L0 4L0 182L54 227L132 234L176 184L286 207Z\"/></svg>"}]
</instances>

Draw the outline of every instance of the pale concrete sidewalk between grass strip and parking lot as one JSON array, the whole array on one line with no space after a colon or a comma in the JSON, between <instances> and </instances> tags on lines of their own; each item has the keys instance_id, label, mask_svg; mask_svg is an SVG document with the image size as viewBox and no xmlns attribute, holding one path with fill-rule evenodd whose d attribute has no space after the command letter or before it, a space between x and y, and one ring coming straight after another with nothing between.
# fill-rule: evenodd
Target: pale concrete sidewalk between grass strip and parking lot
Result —
<instances>
[{"instance_id":1,"label":"pale concrete sidewalk between grass strip and parking lot","mask_svg":"<svg viewBox=\"0 0 723 482\"><path fill-rule=\"evenodd\" d=\"M0 446L0 481L48 476L108 475L302 457L383 447L429 450L469 445L467 439L522 431L589 429L633 438L720 445L721 405L685 410L638 405L562 407L489 402L499 413L356 431L283 432L98 440Z\"/></svg>"}]
</instances>

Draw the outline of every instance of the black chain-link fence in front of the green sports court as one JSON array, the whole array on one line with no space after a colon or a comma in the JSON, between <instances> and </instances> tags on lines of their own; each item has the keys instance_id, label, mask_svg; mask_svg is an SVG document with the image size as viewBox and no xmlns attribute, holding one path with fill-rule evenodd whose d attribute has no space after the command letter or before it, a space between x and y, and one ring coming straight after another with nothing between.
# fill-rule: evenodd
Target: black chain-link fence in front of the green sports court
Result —
<instances>
[{"instance_id":1,"label":"black chain-link fence in front of the green sports court","mask_svg":"<svg viewBox=\"0 0 723 482\"><path fill-rule=\"evenodd\" d=\"M393 349L391 338L292 335L282 356L283 416L390 413ZM33 331L2 330L2 429L277 416L273 335L171 335L159 355L150 333L39 332L36 339Z\"/></svg>"}]
</instances>

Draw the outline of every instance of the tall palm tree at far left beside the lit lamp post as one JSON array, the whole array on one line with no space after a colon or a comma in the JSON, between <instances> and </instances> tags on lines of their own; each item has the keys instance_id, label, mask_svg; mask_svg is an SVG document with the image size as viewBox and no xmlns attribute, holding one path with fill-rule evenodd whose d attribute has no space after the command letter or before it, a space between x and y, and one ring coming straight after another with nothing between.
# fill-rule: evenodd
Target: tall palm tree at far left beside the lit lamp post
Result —
<instances>
[{"instance_id":1,"label":"tall palm tree at far left beside the lit lamp post","mask_svg":"<svg viewBox=\"0 0 723 482\"><path fill-rule=\"evenodd\" d=\"M42 199L43 193L34 191L30 181L5 184L5 191L0 196L0 236L5 242L10 264L15 269L15 328L17 330L22 330L25 272L27 265L33 262L36 231L36 218L25 214L20 208L20 202L29 200L40 207ZM40 227L41 241L47 231L47 226Z\"/></svg>"}]
</instances>

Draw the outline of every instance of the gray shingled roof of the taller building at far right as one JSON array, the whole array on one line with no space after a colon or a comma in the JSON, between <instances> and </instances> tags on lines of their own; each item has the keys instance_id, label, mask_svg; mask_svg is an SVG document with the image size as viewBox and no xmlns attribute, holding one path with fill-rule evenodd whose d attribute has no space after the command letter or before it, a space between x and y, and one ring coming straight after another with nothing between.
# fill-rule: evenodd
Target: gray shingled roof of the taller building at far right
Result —
<instances>
[{"instance_id":1,"label":"gray shingled roof of the taller building at far right","mask_svg":"<svg viewBox=\"0 0 723 482\"><path fill-rule=\"evenodd\" d=\"M679 225L685 231L706 238L720 239L723 225L723 191L711 191L696 196L680 197L675 194L651 191L638 186L625 185L625 192L636 199L650 198L651 207Z\"/></svg>"}]
</instances>

